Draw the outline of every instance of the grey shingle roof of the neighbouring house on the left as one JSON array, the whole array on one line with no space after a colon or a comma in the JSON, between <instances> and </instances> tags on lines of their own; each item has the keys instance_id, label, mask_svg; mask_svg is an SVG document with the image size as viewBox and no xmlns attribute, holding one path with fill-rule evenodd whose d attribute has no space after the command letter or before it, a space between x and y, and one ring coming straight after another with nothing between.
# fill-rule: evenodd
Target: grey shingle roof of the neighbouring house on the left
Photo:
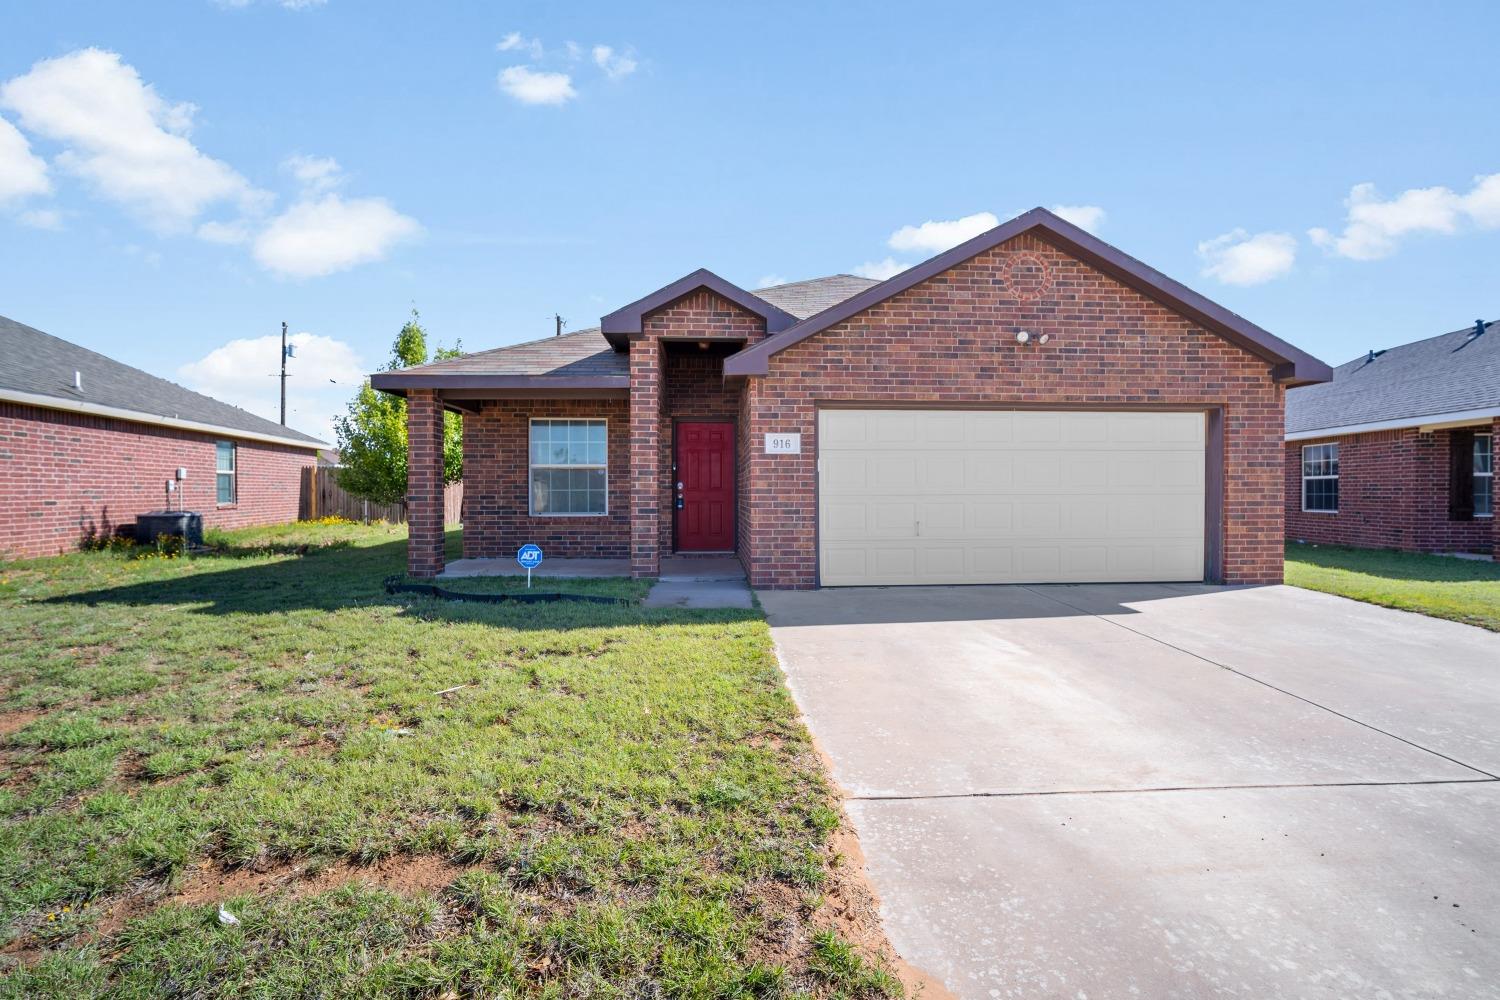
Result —
<instances>
[{"instance_id":1,"label":"grey shingle roof of the neighbouring house on the left","mask_svg":"<svg viewBox=\"0 0 1500 1000\"><path fill-rule=\"evenodd\" d=\"M82 387L74 387L74 372ZM0 400L316 448L322 441L0 316Z\"/></svg>"}]
</instances>

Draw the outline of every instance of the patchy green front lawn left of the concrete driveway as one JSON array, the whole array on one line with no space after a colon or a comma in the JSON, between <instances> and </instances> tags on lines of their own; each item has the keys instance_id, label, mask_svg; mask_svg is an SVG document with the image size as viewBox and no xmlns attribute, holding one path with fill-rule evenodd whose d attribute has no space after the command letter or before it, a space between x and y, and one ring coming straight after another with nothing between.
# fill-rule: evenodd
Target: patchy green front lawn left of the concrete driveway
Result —
<instances>
[{"instance_id":1,"label":"patchy green front lawn left of the concrete driveway","mask_svg":"<svg viewBox=\"0 0 1500 1000\"><path fill-rule=\"evenodd\" d=\"M210 541L0 564L0 996L900 994L758 613Z\"/></svg>"}]
</instances>

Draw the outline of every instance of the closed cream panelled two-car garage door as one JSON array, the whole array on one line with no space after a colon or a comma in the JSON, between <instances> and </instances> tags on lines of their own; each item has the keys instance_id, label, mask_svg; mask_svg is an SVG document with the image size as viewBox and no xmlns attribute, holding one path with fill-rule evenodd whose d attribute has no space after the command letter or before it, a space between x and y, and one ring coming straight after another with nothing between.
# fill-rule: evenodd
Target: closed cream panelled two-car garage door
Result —
<instances>
[{"instance_id":1,"label":"closed cream panelled two-car garage door","mask_svg":"<svg viewBox=\"0 0 1500 1000\"><path fill-rule=\"evenodd\" d=\"M824 586L1203 579L1204 415L824 409Z\"/></svg>"}]
</instances>

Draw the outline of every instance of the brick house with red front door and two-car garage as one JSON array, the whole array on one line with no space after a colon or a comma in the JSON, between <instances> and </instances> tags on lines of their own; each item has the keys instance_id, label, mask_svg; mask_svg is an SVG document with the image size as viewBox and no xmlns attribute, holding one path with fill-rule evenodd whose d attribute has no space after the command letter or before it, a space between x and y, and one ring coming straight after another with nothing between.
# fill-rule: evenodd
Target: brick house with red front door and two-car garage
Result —
<instances>
[{"instance_id":1,"label":"brick house with red front door and two-car garage","mask_svg":"<svg viewBox=\"0 0 1500 1000\"><path fill-rule=\"evenodd\" d=\"M399 372L408 568L735 553L754 586L1281 580L1281 421L1322 361L1041 208L884 282L694 271Z\"/></svg>"}]
</instances>

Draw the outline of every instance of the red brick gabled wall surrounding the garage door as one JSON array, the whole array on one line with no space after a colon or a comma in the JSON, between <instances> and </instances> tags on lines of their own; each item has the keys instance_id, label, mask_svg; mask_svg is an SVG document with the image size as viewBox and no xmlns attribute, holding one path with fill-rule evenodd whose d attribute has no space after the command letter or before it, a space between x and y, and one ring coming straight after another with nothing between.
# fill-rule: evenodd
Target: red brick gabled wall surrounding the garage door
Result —
<instances>
[{"instance_id":1,"label":"red brick gabled wall surrounding the garage door","mask_svg":"<svg viewBox=\"0 0 1500 1000\"><path fill-rule=\"evenodd\" d=\"M1052 342L1022 348L1017 330ZM818 580L818 403L1221 406L1222 577L1280 583L1282 397L1269 364L1034 235L987 250L771 358L750 379L750 442L801 432L802 454L747 448L750 580Z\"/></svg>"}]
</instances>

